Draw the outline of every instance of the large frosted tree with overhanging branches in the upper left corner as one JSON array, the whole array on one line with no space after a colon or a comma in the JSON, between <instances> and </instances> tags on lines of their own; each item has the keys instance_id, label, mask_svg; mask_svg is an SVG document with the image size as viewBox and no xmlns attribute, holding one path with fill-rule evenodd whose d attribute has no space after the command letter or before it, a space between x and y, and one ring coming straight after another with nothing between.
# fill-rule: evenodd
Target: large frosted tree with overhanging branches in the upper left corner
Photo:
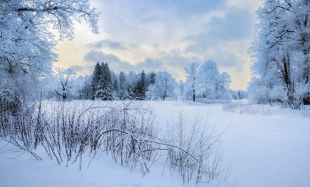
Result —
<instances>
[{"instance_id":1,"label":"large frosted tree with overhanging branches in the upper left corner","mask_svg":"<svg viewBox=\"0 0 310 187\"><path fill-rule=\"evenodd\" d=\"M89 0L0 1L0 93L5 93L0 100L12 99L7 97L10 94L34 93L58 60L58 41L74 38L73 21L85 19L98 33L97 18Z\"/></svg>"}]
</instances>

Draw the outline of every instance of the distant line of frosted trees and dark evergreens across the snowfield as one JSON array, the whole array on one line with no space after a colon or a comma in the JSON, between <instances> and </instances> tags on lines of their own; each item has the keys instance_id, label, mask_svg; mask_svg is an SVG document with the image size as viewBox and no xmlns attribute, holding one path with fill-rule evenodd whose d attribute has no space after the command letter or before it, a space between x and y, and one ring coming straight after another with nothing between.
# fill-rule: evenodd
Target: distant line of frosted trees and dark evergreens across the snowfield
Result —
<instances>
[{"instance_id":1,"label":"distant line of frosted trees and dark evergreens across the snowfield","mask_svg":"<svg viewBox=\"0 0 310 187\"><path fill-rule=\"evenodd\" d=\"M196 101L196 98L206 100L244 99L244 91L232 91L227 72L220 73L217 64L205 61L198 69L198 64L192 63L184 68L188 73L185 82L178 83L167 71L145 73L141 71L110 70L107 63L97 63L92 75L77 77L71 69L57 68L54 83L46 85L52 89L46 94L47 99L59 97L62 100L176 100Z\"/></svg>"}]
</instances>

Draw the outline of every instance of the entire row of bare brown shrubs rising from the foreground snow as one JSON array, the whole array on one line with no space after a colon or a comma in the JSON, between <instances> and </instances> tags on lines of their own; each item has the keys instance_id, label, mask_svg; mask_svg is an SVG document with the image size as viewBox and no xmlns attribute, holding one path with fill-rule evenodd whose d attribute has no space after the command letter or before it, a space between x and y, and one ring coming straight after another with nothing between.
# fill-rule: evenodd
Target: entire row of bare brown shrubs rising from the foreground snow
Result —
<instances>
[{"instance_id":1,"label":"entire row of bare brown shrubs rising from the foreground snow","mask_svg":"<svg viewBox=\"0 0 310 187\"><path fill-rule=\"evenodd\" d=\"M18 115L0 116L0 137L37 160L41 160L36 153L40 147L59 164L79 162L80 169L82 155L94 159L105 153L130 170L139 168L143 175L160 161L184 183L227 177L227 166L221 166L222 153L216 146L221 134L199 117L187 123L180 113L167 132L159 134L151 108L132 101L96 101L90 106L39 101L23 106Z\"/></svg>"}]
</instances>

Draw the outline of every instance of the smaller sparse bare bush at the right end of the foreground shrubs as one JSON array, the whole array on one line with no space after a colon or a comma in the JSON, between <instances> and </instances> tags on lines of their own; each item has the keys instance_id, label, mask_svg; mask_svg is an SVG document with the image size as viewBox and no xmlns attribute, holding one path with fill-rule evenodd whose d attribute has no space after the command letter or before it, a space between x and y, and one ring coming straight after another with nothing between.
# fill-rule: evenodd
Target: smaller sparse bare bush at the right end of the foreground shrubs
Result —
<instances>
[{"instance_id":1,"label":"smaller sparse bare bush at the right end of the foreground shrubs","mask_svg":"<svg viewBox=\"0 0 310 187\"><path fill-rule=\"evenodd\" d=\"M164 139L169 145L174 145L167 146L168 166L177 171L184 183L190 180L209 183L220 176L226 178L229 167L221 166L219 138L221 134L215 126L204 123L200 116L190 118L179 112L178 116L167 122Z\"/></svg>"}]
</instances>

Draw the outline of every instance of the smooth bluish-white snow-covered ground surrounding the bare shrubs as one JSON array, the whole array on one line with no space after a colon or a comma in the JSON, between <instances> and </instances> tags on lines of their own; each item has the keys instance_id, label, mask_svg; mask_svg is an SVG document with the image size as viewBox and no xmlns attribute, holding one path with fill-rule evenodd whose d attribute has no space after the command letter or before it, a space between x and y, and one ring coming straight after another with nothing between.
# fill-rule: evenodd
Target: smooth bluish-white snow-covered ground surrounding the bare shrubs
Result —
<instances>
[{"instance_id":1,"label":"smooth bluish-white snow-covered ground surrounding the bare shrubs","mask_svg":"<svg viewBox=\"0 0 310 187\"><path fill-rule=\"evenodd\" d=\"M183 111L199 114L207 123L216 124L221 137L224 162L231 162L230 183L240 187L308 187L310 185L310 120L286 116L249 116L222 111L223 104L192 101L141 101L153 108L161 128ZM47 157L36 161L28 153L0 141L0 186L197 186L183 184L176 174L159 165L142 176L139 170L112 161L109 156L79 164L58 165ZM239 180L240 179L240 180ZM217 182L198 186L215 186Z\"/></svg>"}]
</instances>

